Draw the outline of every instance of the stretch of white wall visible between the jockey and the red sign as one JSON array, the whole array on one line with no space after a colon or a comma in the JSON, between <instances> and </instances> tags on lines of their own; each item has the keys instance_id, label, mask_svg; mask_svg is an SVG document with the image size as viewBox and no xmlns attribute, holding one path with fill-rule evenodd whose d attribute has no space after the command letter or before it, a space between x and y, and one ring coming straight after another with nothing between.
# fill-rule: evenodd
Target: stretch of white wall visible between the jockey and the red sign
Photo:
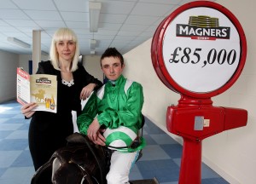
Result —
<instances>
[{"instance_id":1,"label":"stretch of white wall visible between the jockey and the red sign","mask_svg":"<svg viewBox=\"0 0 256 184\"><path fill-rule=\"evenodd\" d=\"M166 107L177 104L180 95L168 89L157 77L150 57L150 47L151 39L124 55L124 75L143 84L144 115L166 129Z\"/></svg>"}]
</instances>

